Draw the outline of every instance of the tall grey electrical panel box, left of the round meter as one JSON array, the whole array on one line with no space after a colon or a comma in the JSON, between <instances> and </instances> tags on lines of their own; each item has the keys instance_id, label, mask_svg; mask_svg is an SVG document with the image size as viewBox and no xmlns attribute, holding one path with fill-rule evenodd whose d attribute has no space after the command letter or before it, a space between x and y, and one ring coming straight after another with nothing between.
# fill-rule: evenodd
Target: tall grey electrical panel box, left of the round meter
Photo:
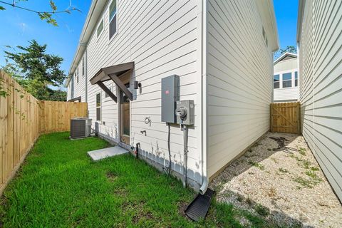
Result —
<instances>
[{"instance_id":1,"label":"tall grey electrical panel box, left of the round meter","mask_svg":"<svg viewBox=\"0 0 342 228\"><path fill-rule=\"evenodd\" d=\"M162 122L176 123L177 100L180 100L180 76L162 78Z\"/></svg>"}]
</instances>

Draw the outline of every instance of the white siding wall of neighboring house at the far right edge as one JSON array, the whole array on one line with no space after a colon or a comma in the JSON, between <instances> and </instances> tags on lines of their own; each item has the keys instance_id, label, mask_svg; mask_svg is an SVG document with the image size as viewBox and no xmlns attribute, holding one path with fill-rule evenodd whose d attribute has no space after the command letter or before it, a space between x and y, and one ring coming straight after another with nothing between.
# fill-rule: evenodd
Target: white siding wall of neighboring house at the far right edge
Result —
<instances>
[{"instance_id":1,"label":"white siding wall of neighboring house at the far right edge","mask_svg":"<svg viewBox=\"0 0 342 228\"><path fill-rule=\"evenodd\" d=\"M303 135L342 200L342 1L300 1L297 42Z\"/></svg>"}]
</instances>

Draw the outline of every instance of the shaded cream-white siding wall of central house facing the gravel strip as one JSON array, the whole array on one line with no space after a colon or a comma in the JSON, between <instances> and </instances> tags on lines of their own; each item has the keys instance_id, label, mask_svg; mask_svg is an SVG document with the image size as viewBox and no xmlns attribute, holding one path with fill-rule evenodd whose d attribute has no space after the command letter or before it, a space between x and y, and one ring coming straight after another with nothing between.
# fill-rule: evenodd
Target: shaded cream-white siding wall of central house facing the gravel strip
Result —
<instances>
[{"instance_id":1,"label":"shaded cream-white siding wall of central house facing the gravel strip","mask_svg":"<svg viewBox=\"0 0 342 228\"><path fill-rule=\"evenodd\" d=\"M273 61L256 1L209 0L209 177L269 130Z\"/></svg>"}]
</instances>

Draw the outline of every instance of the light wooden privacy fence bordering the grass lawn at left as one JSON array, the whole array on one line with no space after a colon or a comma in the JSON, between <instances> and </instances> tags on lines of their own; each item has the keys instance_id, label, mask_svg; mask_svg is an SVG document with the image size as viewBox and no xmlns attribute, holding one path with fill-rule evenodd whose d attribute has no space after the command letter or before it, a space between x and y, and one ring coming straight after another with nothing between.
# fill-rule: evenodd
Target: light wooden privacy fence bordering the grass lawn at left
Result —
<instances>
[{"instance_id":1,"label":"light wooden privacy fence bordering the grass lawn at left","mask_svg":"<svg viewBox=\"0 0 342 228\"><path fill-rule=\"evenodd\" d=\"M0 71L0 195L41 133L70 130L87 103L39 101Z\"/></svg>"}]
</instances>

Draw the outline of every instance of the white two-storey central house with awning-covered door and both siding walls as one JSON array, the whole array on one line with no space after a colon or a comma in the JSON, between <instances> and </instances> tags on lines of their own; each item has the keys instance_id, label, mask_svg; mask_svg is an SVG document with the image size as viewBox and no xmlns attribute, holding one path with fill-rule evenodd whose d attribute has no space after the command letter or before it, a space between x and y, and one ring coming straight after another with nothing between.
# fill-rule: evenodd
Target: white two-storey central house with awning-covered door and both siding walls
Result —
<instances>
[{"instance_id":1,"label":"white two-storey central house with awning-covered door and both siding walls","mask_svg":"<svg viewBox=\"0 0 342 228\"><path fill-rule=\"evenodd\" d=\"M277 49L270 0L94 0L66 82L68 99L74 90L73 97L88 102L98 135L126 148L140 142L140 157L167 166L161 98L170 91L162 90L161 81L180 76L179 99L195 103L187 178L204 191L209 177L269 130ZM171 124L178 176L183 145L180 125Z\"/></svg>"}]
</instances>

